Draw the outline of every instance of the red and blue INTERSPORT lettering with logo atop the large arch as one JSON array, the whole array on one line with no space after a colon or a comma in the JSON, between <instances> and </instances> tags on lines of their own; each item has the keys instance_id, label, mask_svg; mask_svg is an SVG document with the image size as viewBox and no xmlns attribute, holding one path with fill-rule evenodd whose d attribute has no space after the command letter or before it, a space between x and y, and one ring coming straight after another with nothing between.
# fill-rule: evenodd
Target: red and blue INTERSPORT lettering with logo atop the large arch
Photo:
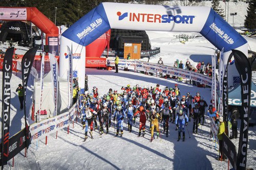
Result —
<instances>
[{"instance_id":1,"label":"red and blue INTERSPORT lettering with logo atop the large arch","mask_svg":"<svg viewBox=\"0 0 256 170\"><path fill-rule=\"evenodd\" d=\"M154 22L154 23L193 23L194 15L160 15L160 14L147 14L147 13L121 13L117 12L118 20L123 20L128 17L129 21L133 22Z\"/></svg>"}]
</instances>

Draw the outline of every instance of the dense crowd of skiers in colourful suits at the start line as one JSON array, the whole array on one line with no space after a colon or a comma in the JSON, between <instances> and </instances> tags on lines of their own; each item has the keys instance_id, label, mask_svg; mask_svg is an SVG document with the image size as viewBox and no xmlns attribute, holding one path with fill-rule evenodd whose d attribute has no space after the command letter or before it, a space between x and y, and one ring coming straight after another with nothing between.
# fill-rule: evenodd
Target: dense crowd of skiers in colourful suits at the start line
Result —
<instances>
[{"instance_id":1,"label":"dense crowd of skiers in colourful suits at the start line","mask_svg":"<svg viewBox=\"0 0 256 170\"><path fill-rule=\"evenodd\" d=\"M193 132L197 133L198 125L204 124L204 114L207 103L197 92L191 96L189 92L181 96L178 85L160 89L159 84L155 87L140 87L138 84L131 87L129 84L121 88L121 92L115 89L103 95L100 99L98 88L93 87L92 91L86 91L80 95L79 112L81 122L84 128L85 137L90 135L93 138L93 130L99 128L99 133L108 134L112 126L115 130L115 136L123 135L123 123L127 125L127 130L132 132L134 124L136 125L139 117L139 136L145 135L146 121L150 122L149 131L151 141L154 139L154 133L157 138L160 133L168 137L169 123L176 124L178 130L178 140L185 140L185 126L193 118ZM193 106L193 107L192 107ZM98 119L98 122L97 122ZM94 123L94 126L93 126ZM163 132L160 132L163 127ZM104 130L105 128L105 130Z\"/></svg>"}]
</instances>

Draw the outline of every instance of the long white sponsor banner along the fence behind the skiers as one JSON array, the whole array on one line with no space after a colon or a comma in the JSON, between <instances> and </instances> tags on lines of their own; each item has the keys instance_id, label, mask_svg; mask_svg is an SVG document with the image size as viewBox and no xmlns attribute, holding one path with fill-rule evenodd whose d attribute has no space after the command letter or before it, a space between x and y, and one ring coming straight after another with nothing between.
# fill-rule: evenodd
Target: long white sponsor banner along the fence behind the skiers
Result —
<instances>
[{"instance_id":1,"label":"long white sponsor banner along the fence behind the skiers","mask_svg":"<svg viewBox=\"0 0 256 170\"><path fill-rule=\"evenodd\" d=\"M106 61L107 66L115 66L115 59L107 59ZM203 74L199 74L198 72L189 71L181 68L175 68L166 65L154 64L154 63L147 63L137 60L120 60L118 63L119 67L128 67L129 69L138 70L138 71L145 71L145 72L152 72L153 74L159 74L162 72L165 75L170 76L177 76L182 77L184 79L193 80L207 86L212 85L212 80L210 77L205 76Z\"/></svg>"}]
</instances>

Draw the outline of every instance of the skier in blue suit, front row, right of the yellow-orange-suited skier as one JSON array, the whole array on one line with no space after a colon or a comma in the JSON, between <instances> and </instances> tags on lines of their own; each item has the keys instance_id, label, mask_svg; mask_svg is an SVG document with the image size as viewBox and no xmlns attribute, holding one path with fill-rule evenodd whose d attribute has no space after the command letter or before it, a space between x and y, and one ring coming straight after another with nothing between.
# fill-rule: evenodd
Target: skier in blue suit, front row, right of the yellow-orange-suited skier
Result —
<instances>
[{"instance_id":1,"label":"skier in blue suit, front row, right of the yellow-orange-suited skier","mask_svg":"<svg viewBox=\"0 0 256 170\"><path fill-rule=\"evenodd\" d=\"M175 119L175 124L178 129L178 141L180 140L181 131L183 134L183 141L185 141L185 126L187 126L187 122L187 115L183 112L183 110L180 110Z\"/></svg>"}]
</instances>

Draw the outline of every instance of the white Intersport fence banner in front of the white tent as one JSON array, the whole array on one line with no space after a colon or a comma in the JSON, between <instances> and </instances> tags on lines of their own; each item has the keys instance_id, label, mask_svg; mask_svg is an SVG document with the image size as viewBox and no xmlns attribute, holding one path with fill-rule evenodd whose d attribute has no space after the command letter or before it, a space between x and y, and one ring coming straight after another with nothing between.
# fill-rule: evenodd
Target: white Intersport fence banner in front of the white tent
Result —
<instances>
[{"instance_id":1,"label":"white Intersport fence banner in front of the white tent","mask_svg":"<svg viewBox=\"0 0 256 170\"><path fill-rule=\"evenodd\" d=\"M42 120L39 123L32 124L29 128L31 133L31 142L43 139L45 136L67 127L68 124L69 112L65 112L58 116Z\"/></svg>"}]
</instances>

